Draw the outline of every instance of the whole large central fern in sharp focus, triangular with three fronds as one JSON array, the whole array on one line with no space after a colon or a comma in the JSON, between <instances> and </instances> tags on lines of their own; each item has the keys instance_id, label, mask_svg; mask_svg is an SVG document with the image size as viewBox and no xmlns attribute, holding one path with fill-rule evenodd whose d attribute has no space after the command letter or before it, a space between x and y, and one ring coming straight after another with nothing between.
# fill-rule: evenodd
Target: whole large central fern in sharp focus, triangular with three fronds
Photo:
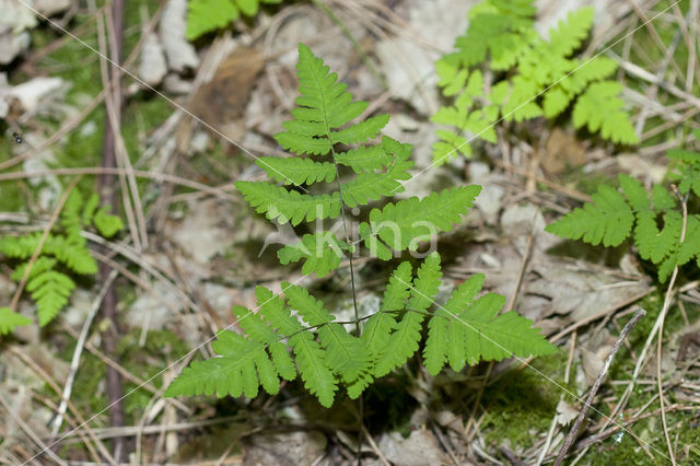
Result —
<instances>
[{"instance_id":1,"label":"whole large central fern in sharp focus, triangular with three fronds","mask_svg":"<svg viewBox=\"0 0 700 466\"><path fill-rule=\"evenodd\" d=\"M410 178L411 147L387 137L378 143L370 142L388 116L351 123L368 104L354 102L347 85L337 82L336 73L330 73L303 44L299 46L296 70L299 106L292 110L293 119L283 125L285 131L276 139L298 156L258 160L269 177L282 186L236 182L245 199L268 219L296 225L304 220L336 219L345 208L366 206L401 191L400 182ZM313 156L302 158L304 154ZM341 166L354 177L338 179ZM331 183L330 193L310 193L322 183ZM298 188L283 186L290 184ZM451 230L480 189L459 186L423 199L389 202L372 209L369 221L359 226L359 244L323 231L282 247L278 256L282 264L304 260L303 272L319 277L337 269L342 257L352 259L360 245L371 256L388 260L394 254L416 249L417 236L425 238L429 232ZM277 394L280 378L291 381L299 373L304 386L329 407L339 386L355 398L374 378L405 364L419 349L424 322L428 338L423 357L431 374L440 372L445 363L459 371L479 360L553 350L538 329L530 328L530 321L513 312L499 315L502 296L478 296L483 276L472 277L444 305L435 305L442 276L440 260L440 255L432 253L417 270L408 261L400 263L388 279L380 311L363 322L359 335L336 322L327 306L302 287L284 282L279 294L257 287L255 310L233 308L242 333L220 331L212 343L219 357L185 368L166 395L255 397L260 385L267 393ZM354 324L360 327L359 321Z\"/></svg>"}]
</instances>

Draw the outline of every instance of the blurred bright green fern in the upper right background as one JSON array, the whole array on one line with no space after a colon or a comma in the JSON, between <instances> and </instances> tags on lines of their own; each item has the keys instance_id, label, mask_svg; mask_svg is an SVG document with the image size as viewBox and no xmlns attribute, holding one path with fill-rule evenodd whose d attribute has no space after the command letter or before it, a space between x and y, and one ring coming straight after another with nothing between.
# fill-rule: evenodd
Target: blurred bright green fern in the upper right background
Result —
<instances>
[{"instance_id":1,"label":"blurred bright green fern in the upper right background","mask_svg":"<svg viewBox=\"0 0 700 466\"><path fill-rule=\"evenodd\" d=\"M469 11L469 28L455 40L456 50L435 65L450 104L431 119L453 128L436 131L435 163L457 153L470 156L470 138L495 143L500 118L553 119L570 107L574 127L618 143L638 141L619 98L622 88L607 79L615 61L572 57L588 36L593 9L569 13L548 40L535 31L535 13L532 0L487 0Z\"/></svg>"}]
</instances>

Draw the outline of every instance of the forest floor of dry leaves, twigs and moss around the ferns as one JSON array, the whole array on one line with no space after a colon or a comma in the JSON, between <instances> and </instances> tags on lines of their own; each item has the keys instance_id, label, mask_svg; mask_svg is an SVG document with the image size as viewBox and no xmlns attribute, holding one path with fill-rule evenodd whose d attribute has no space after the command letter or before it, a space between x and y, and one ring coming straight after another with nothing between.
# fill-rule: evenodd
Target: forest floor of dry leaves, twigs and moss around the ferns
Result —
<instances>
[{"instance_id":1,"label":"forest floor of dry leaves, twigs and moss around the ferns","mask_svg":"<svg viewBox=\"0 0 700 466\"><path fill-rule=\"evenodd\" d=\"M0 337L0 463L349 465L361 451L365 465L553 464L639 308L646 315L611 361L565 464L700 462L698 268L669 287L628 243L594 247L544 230L618 174L651 186L664 179L667 150L700 149L687 131L700 129L698 0L536 2L540 32L596 8L582 57L617 61L639 143L534 119L501 125L497 144L475 143L470 159L440 166L434 62L478 1L283 1L194 43L184 38L185 0L129 1L121 32L102 1L59 3L49 21L34 21L23 1L0 0L10 24L0 44L22 43L16 31L26 39L0 68L0 237L44 231L69 187L97 189L107 108L119 100L110 173L126 226L89 238L107 272L77 279L45 327L30 293L15 298L16 263L0 255L0 304L35 321ZM125 74L114 92L105 58L119 34ZM533 319L557 353L434 377L413 358L364 394L360 436L357 401L320 408L299 380L255 399L163 397L183 368L213 354L215 333L235 324L233 305L255 307L256 286L303 279L334 314L352 308L348 264L323 279L281 266L277 251L302 231L256 214L233 186L262 177L256 156L284 154L273 135L294 107L299 43L371 112L390 115L386 135L413 144L415 178L401 196L483 187L438 241L441 293L483 272L485 290ZM373 312L390 270L354 265L360 310ZM101 312L109 270L114 317Z\"/></svg>"}]
</instances>

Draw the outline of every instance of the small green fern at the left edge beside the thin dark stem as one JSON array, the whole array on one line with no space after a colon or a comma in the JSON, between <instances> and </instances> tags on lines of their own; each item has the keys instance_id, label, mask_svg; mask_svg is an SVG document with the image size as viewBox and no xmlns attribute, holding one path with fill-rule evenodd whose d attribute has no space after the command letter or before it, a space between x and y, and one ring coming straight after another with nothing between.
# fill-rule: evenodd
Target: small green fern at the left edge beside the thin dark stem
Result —
<instances>
[{"instance_id":1,"label":"small green fern at the left edge beside the thin dark stem","mask_svg":"<svg viewBox=\"0 0 700 466\"><path fill-rule=\"evenodd\" d=\"M40 326L47 325L66 306L75 282L72 273L90 276L97 272L97 263L86 245L81 230L93 225L104 237L114 236L122 228L121 219L98 208L100 197L92 194L86 200L75 188L59 215L58 224L48 234L40 254L32 265L26 291L36 304ZM0 237L0 255L19 261L11 278L20 281L31 257L39 245L42 232L23 236ZM0 335L9 334L31 321L10 307L0 307Z\"/></svg>"}]
</instances>

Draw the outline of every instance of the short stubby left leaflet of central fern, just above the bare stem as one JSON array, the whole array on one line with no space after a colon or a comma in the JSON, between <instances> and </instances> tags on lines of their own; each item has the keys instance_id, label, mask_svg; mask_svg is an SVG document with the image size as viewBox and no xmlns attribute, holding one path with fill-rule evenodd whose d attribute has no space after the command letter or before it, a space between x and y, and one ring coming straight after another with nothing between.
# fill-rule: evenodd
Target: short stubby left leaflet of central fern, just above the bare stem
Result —
<instances>
[{"instance_id":1,"label":"short stubby left leaflet of central fern, just above the bare stem","mask_svg":"<svg viewBox=\"0 0 700 466\"><path fill-rule=\"evenodd\" d=\"M323 278L338 268L343 251L349 249L350 246L338 240L335 234L322 232L305 234L302 241L278 251L277 256L282 265L304 259L302 273L316 273L318 278Z\"/></svg>"}]
</instances>

